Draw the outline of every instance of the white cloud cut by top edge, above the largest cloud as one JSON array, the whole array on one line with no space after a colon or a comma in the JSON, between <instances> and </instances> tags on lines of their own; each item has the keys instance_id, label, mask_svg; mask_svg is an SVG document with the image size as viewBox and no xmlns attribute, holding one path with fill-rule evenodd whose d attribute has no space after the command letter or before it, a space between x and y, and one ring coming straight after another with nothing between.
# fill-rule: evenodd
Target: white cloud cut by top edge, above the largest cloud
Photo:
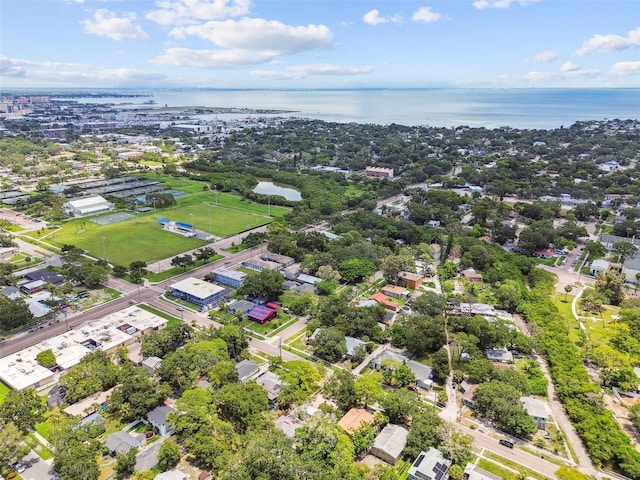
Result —
<instances>
[{"instance_id":1,"label":"white cloud cut by top edge, above the largest cloud","mask_svg":"<svg viewBox=\"0 0 640 480\"><path fill-rule=\"evenodd\" d=\"M251 0L161 0L147 18L161 25L182 25L246 15Z\"/></svg>"}]
</instances>

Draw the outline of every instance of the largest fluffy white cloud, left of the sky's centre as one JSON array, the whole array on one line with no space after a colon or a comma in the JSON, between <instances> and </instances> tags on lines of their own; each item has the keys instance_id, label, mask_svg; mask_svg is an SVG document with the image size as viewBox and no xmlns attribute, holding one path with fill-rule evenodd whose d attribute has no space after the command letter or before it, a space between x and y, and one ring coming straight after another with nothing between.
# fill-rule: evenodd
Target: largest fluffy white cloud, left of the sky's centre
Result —
<instances>
[{"instance_id":1,"label":"largest fluffy white cloud, left of the sky's centre","mask_svg":"<svg viewBox=\"0 0 640 480\"><path fill-rule=\"evenodd\" d=\"M243 68L273 61L282 55L327 48L333 33L324 25L290 26L259 18L207 22L174 29L172 35L193 35L218 49L168 48L153 62L202 68Z\"/></svg>"}]
</instances>

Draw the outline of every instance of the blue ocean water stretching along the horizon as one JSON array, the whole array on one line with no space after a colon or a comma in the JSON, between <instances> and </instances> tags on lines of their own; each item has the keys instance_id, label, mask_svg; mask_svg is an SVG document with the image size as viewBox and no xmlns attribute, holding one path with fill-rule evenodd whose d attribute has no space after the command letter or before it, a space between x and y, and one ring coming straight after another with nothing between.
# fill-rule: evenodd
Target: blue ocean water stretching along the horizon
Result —
<instances>
[{"instance_id":1,"label":"blue ocean water stretching along the horizon","mask_svg":"<svg viewBox=\"0 0 640 480\"><path fill-rule=\"evenodd\" d=\"M576 121L640 118L640 88L138 91L152 94L156 106L289 110L305 118L383 125L552 129Z\"/></svg>"}]
</instances>

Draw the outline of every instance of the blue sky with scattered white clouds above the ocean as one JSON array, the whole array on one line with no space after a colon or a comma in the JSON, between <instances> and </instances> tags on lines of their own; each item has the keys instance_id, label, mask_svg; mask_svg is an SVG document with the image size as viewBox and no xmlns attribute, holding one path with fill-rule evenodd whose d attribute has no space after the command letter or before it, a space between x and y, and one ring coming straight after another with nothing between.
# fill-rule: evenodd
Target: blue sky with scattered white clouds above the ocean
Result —
<instances>
[{"instance_id":1,"label":"blue sky with scattered white clouds above the ocean","mask_svg":"<svg viewBox=\"0 0 640 480\"><path fill-rule=\"evenodd\" d=\"M0 0L26 87L640 87L640 0Z\"/></svg>"}]
</instances>

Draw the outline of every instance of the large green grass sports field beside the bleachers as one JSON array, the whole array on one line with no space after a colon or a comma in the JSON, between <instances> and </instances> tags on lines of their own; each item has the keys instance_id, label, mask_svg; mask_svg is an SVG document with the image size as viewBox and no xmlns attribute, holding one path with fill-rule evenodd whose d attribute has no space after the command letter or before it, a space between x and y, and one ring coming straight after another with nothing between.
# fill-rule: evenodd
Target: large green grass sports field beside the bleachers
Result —
<instances>
[{"instance_id":1,"label":"large green grass sports field beside the bleachers","mask_svg":"<svg viewBox=\"0 0 640 480\"><path fill-rule=\"evenodd\" d=\"M163 230L158 218L190 223L219 237L235 235L272 221L268 206L243 200L230 194L199 192L178 198L178 205L140 214L136 218L108 225L99 225L88 218L65 222L45 241L61 246L76 245L90 255L106 256L110 263L129 265L137 260L152 261L172 257L206 244L203 240L186 238ZM289 209L271 207L272 216L284 215Z\"/></svg>"}]
</instances>

